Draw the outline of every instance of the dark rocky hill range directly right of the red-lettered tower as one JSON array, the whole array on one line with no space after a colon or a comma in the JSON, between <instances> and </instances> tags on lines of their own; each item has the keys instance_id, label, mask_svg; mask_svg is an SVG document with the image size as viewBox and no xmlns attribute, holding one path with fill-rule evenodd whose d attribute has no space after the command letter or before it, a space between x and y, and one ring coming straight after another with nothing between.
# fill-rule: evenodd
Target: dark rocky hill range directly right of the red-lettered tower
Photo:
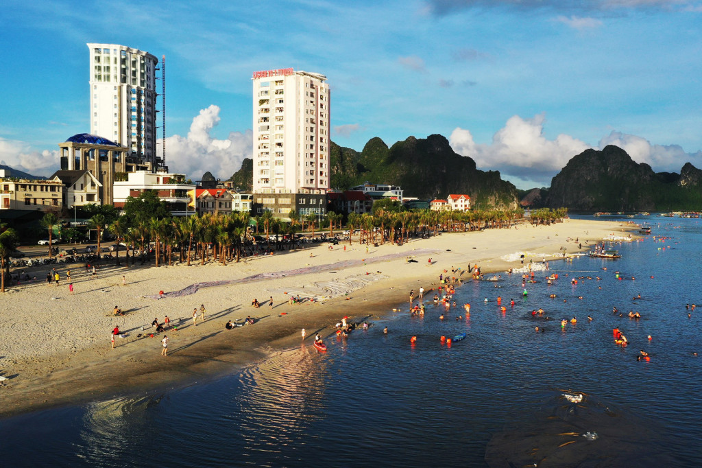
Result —
<instances>
[{"instance_id":1,"label":"dark rocky hill range directly right of the red-lettered tower","mask_svg":"<svg viewBox=\"0 0 702 468\"><path fill-rule=\"evenodd\" d=\"M398 185L407 197L445 198L470 195L473 206L510 207L518 204L517 189L498 171L479 171L470 157L458 155L441 135L410 136L388 148L371 138L362 152L331 143L331 187L346 189L364 181Z\"/></svg>"}]
</instances>

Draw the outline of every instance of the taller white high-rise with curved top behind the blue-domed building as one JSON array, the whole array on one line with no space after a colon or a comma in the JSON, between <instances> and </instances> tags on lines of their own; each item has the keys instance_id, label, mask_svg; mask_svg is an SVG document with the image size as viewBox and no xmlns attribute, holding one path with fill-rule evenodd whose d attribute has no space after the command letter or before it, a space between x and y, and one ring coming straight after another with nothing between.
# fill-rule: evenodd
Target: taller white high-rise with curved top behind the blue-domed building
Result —
<instances>
[{"instance_id":1,"label":"taller white high-rise with curved top behind the blue-domed building","mask_svg":"<svg viewBox=\"0 0 702 468\"><path fill-rule=\"evenodd\" d=\"M150 53L117 44L90 49L91 134L125 145L132 157L159 163L156 70Z\"/></svg>"}]
</instances>

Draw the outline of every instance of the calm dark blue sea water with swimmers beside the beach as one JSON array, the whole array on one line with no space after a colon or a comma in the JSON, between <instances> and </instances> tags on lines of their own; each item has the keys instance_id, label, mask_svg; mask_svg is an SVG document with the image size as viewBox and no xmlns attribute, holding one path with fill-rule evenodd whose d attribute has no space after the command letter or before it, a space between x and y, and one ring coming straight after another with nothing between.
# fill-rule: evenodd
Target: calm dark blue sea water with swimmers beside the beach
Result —
<instances>
[{"instance_id":1,"label":"calm dark blue sea water with swimmers beside the beach","mask_svg":"<svg viewBox=\"0 0 702 468\"><path fill-rule=\"evenodd\" d=\"M329 337L327 353L301 346L208 384L1 420L3 464L699 466L702 224L649 223L671 239L616 246L616 261L552 261L559 279L536 273L526 299L519 275L465 283L454 298L471 304L470 318L452 308L442 321L443 308L428 304L423 317L391 314ZM701 304L690 318L687 303ZM539 307L552 320L533 318ZM450 348L439 342L461 332ZM650 362L637 362L640 349ZM585 399L569 403L565 389Z\"/></svg>"}]
</instances>

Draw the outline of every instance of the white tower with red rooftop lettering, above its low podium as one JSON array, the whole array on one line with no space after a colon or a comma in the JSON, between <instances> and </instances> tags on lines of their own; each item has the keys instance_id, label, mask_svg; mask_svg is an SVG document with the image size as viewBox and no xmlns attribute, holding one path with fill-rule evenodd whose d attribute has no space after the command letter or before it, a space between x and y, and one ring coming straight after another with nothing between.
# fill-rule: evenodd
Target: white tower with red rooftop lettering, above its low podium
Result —
<instances>
[{"instance_id":1,"label":"white tower with red rooftop lettering, above its low podium","mask_svg":"<svg viewBox=\"0 0 702 468\"><path fill-rule=\"evenodd\" d=\"M329 84L292 68L253 74L253 192L329 190Z\"/></svg>"}]
</instances>

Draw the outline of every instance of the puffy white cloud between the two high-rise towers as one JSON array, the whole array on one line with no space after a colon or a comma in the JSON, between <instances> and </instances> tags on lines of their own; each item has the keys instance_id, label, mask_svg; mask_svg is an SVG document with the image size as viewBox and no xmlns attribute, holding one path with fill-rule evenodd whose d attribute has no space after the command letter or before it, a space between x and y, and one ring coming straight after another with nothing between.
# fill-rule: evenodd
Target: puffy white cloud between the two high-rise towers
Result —
<instances>
[{"instance_id":1,"label":"puffy white cloud between the two high-rise towers","mask_svg":"<svg viewBox=\"0 0 702 468\"><path fill-rule=\"evenodd\" d=\"M173 135L166 138L166 164L171 171L185 173L193 181L206 171L223 180L241 168L241 161L251 157L253 133L232 131L226 140L218 140L210 131L220 121L216 105L200 111L192 119L187 137Z\"/></svg>"}]
</instances>

